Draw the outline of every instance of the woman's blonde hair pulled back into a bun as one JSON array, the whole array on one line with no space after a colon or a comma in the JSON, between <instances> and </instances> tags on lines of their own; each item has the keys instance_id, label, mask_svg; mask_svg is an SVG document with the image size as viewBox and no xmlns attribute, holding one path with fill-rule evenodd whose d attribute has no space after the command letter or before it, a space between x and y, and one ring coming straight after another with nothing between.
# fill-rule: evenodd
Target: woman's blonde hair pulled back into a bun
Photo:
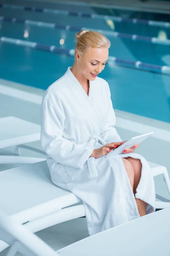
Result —
<instances>
[{"instance_id":1,"label":"woman's blonde hair pulled back into a bun","mask_svg":"<svg viewBox=\"0 0 170 256\"><path fill-rule=\"evenodd\" d=\"M86 29L82 29L78 32L75 39L77 41L75 52L78 51L80 56L83 56L89 47L110 48L111 46L111 42L105 35L96 31L88 31Z\"/></svg>"}]
</instances>

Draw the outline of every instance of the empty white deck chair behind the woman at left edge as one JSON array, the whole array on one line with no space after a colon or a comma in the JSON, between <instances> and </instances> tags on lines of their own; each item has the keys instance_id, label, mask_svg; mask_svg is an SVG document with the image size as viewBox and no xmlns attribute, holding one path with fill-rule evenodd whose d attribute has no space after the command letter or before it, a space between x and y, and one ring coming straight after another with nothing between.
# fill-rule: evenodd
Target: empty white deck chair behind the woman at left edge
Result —
<instances>
[{"instance_id":1,"label":"empty white deck chair behind the woman at left edge","mask_svg":"<svg viewBox=\"0 0 170 256\"><path fill-rule=\"evenodd\" d=\"M14 147L14 155L0 155L0 164L36 163L45 160L39 157L21 157L20 148L27 148L45 155L45 152L24 143L40 140L40 125L14 116L0 118L0 149Z\"/></svg>"}]
</instances>

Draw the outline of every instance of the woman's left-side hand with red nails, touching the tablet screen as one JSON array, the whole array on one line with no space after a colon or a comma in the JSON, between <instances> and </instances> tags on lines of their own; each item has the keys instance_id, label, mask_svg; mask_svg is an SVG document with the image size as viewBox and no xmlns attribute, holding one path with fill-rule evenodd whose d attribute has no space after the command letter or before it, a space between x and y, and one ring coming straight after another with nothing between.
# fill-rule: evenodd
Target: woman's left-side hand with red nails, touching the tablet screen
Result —
<instances>
[{"instance_id":1,"label":"woman's left-side hand with red nails, touching the tablet screen","mask_svg":"<svg viewBox=\"0 0 170 256\"><path fill-rule=\"evenodd\" d=\"M105 154L108 154L112 151L112 149L115 149L119 147L122 142L113 142L113 143L107 143L106 145L102 146L101 148L94 149L93 153L91 154L91 157L99 158L104 156Z\"/></svg>"}]
</instances>

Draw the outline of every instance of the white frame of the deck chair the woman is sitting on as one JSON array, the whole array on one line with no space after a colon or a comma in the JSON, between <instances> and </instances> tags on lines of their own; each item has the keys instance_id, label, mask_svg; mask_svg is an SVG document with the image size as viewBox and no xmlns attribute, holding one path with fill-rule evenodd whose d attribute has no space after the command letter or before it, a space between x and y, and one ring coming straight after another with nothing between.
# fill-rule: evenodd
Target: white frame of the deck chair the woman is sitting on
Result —
<instances>
[{"instance_id":1,"label":"white frame of the deck chair the woman is sitting on","mask_svg":"<svg viewBox=\"0 0 170 256\"><path fill-rule=\"evenodd\" d=\"M38 163L39 164L39 163ZM150 163L152 166L156 164ZM166 167L156 166L151 169L153 176L163 175L170 194L170 179ZM170 200L156 194L156 198L161 201L156 201L156 209L165 209L170 207ZM74 205L80 203L80 205ZM67 208L66 208L67 207ZM24 224L32 233L43 230L47 227L69 221L75 218L85 216L85 208L80 198L71 192L68 195L56 198L54 200L31 207L17 214L11 215L10 218L14 221ZM0 252L8 247L8 244L0 241Z\"/></svg>"}]
</instances>

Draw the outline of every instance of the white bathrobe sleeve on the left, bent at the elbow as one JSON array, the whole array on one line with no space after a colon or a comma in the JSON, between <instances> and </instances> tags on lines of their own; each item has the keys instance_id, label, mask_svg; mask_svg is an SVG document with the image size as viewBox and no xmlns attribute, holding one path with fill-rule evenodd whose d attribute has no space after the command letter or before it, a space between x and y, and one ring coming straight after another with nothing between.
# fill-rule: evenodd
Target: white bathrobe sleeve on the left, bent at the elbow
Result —
<instances>
[{"instance_id":1,"label":"white bathrobe sleeve on the left, bent at the elbow","mask_svg":"<svg viewBox=\"0 0 170 256\"><path fill-rule=\"evenodd\" d=\"M55 98L54 103L45 97L41 111L41 145L46 154L57 163L83 169L94 150L95 140L76 144L63 138L65 113L60 99Z\"/></svg>"}]
</instances>

